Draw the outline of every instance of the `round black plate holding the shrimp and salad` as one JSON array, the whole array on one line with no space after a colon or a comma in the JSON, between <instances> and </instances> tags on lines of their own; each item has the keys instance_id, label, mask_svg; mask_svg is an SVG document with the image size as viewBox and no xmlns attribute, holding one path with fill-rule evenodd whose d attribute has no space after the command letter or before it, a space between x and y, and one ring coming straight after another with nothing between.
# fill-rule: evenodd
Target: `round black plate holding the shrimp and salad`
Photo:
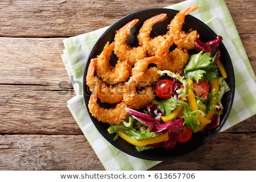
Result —
<instances>
[{"instance_id":1,"label":"round black plate holding the shrimp and salad","mask_svg":"<svg viewBox=\"0 0 256 182\"><path fill-rule=\"evenodd\" d=\"M136 13L127 15L121 19L119 19L117 22L112 24L100 36L100 38L97 40L96 44L94 45L92 51L90 52L88 62L86 64L85 72L84 72L84 99L85 104L88 106L88 101L90 98L90 92L88 89L88 86L85 84L85 76L88 69L88 64L90 62L90 59L96 57L98 54L101 53L103 47L105 46L106 42L112 42L114 40L115 30L118 30L122 26L124 26L127 22L130 20L133 20L135 18L139 19L139 22L135 25L135 27L131 30L131 38L130 38L130 44L137 44L136 34L138 33L139 28L142 26L142 23L144 20L150 18L151 16L160 14L160 13L167 13L168 19L165 20L162 23L159 23L153 27L152 32L158 32L158 34L166 34L167 31L167 24L170 23L171 19L174 18L174 16L177 14L178 11L171 10L171 9L147 9L143 11L138 11ZM199 19L196 19L195 17L191 15L187 15L185 18L185 23L183 24L183 30L188 30L190 28L193 28L193 30L197 30L197 32L200 34L200 40L203 42L207 42L208 40L216 39L216 34L203 22L201 22ZM201 134L196 133L193 134L193 137L189 142L187 143L177 143L176 147L171 150L164 150L162 147L155 148L152 150L146 150L142 152L138 152L135 147L129 143L127 143L122 138L118 138L117 140L113 140L115 137L115 134L109 134L107 129L109 127L108 124L99 122L96 118L92 117L92 121L94 125L97 127L98 131L103 135L103 137L108 140L110 143L113 144L113 146L119 148L119 150L126 152L127 154L136 156L138 158L142 159L148 159L148 160L170 160L170 159L176 159L181 158L185 155L191 154L192 152L195 152L199 150L201 147L205 146L221 129L221 127L226 122L226 119L228 118L230 109L233 104L233 98L234 98L234 71L232 62L230 60L229 54L226 51L226 48L224 47L224 44L220 44L220 51L221 51L221 57L222 64L224 64L226 68L226 72L228 74L228 78L226 78L226 82L228 83L230 90L229 92L225 93L224 97L222 98L222 105L224 106L223 113L221 115L221 121L220 126L218 126L216 129L209 130L207 134ZM221 141L220 141L221 142Z\"/></svg>"}]
</instances>

